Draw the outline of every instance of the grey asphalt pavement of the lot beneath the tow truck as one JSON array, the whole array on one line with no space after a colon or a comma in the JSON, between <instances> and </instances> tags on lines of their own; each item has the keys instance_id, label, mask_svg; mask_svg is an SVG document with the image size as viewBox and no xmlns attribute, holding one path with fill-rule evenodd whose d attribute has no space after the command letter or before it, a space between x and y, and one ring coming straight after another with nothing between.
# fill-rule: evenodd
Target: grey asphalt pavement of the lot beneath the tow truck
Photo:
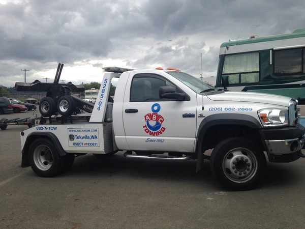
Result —
<instances>
[{"instance_id":1,"label":"grey asphalt pavement of the lot beneath the tow truck","mask_svg":"<svg viewBox=\"0 0 305 229\"><path fill-rule=\"evenodd\" d=\"M32 112L0 115L31 117ZM228 192L209 162L80 156L41 178L21 167L20 131L0 130L0 228L304 228L305 159L268 163L255 190Z\"/></svg>"}]
</instances>

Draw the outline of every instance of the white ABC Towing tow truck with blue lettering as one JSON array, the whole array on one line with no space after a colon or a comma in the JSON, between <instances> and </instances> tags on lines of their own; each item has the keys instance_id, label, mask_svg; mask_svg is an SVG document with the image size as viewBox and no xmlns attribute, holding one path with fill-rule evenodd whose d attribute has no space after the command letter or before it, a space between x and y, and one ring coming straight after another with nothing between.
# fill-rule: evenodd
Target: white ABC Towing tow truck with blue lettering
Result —
<instances>
[{"instance_id":1,"label":"white ABC Towing tow truck with blue lettering","mask_svg":"<svg viewBox=\"0 0 305 229\"><path fill-rule=\"evenodd\" d=\"M119 79L109 102L113 78ZM69 99L60 104L69 109ZM207 158L225 188L245 190L259 183L266 158L291 162L305 156L296 100L216 89L172 68L115 68L104 74L91 114L45 120L21 132L22 167L41 177L68 170L75 155L126 151L128 158L197 159L197 170Z\"/></svg>"}]
</instances>

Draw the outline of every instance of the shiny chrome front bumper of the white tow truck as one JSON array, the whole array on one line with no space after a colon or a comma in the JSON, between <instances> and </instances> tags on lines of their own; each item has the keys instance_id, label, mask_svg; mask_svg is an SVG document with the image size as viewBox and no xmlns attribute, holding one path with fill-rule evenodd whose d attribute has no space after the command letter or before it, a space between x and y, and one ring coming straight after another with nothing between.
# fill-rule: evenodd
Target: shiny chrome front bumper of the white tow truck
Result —
<instances>
[{"instance_id":1,"label":"shiny chrome front bumper of the white tow truck","mask_svg":"<svg viewBox=\"0 0 305 229\"><path fill-rule=\"evenodd\" d=\"M295 153L303 148L304 137L301 139L285 139L285 140L265 140L267 150L269 154L291 154Z\"/></svg>"}]
</instances>

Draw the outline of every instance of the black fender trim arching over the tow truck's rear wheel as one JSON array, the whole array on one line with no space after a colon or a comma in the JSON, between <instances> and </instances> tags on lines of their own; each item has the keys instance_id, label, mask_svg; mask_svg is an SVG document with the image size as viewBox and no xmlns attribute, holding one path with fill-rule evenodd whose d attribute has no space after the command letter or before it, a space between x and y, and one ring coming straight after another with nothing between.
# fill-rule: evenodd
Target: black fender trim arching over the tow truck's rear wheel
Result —
<instances>
[{"instance_id":1,"label":"black fender trim arching over the tow truck's rear wheel","mask_svg":"<svg viewBox=\"0 0 305 229\"><path fill-rule=\"evenodd\" d=\"M22 149L22 159L21 159L21 167L27 167L29 166L29 161L28 161L28 150L29 147L31 146L32 142L36 140L37 138L48 138L50 139L56 150L58 151L58 154L60 156L65 156L67 153L63 149L62 145L60 144L58 138L55 136L55 134L51 132L32 132L30 133L25 140L25 144Z\"/></svg>"}]
</instances>

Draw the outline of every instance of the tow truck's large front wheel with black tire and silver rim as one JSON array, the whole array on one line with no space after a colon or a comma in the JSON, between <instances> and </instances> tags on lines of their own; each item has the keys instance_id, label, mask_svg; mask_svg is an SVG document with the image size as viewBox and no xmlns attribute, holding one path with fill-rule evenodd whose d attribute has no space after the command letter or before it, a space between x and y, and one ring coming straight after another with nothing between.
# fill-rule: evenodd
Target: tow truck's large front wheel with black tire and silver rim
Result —
<instances>
[{"instance_id":1,"label":"tow truck's large front wheel with black tire and silver rim","mask_svg":"<svg viewBox=\"0 0 305 229\"><path fill-rule=\"evenodd\" d=\"M247 138L221 141L210 158L212 173L221 185L234 191L255 188L266 167L266 158L257 144Z\"/></svg>"}]
</instances>

